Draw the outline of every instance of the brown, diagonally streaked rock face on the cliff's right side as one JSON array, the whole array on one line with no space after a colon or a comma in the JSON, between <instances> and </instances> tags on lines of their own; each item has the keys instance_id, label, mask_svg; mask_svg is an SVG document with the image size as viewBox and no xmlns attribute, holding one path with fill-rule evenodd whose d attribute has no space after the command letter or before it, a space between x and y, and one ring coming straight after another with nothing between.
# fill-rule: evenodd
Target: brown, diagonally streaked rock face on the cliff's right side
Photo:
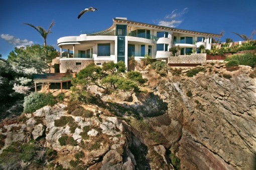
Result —
<instances>
[{"instance_id":1,"label":"brown, diagonally streaked rock face on the cliff's right side","mask_svg":"<svg viewBox=\"0 0 256 170\"><path fill-rule=\"evenodd\" d=\"M168 111L149 118L177 152L181 169L252 169L256 153L256 85L249 68L172 77L157 86ZM232 78L220 77L231 74ZM189 95L188 93L192 93Z\"/></svg>"}]
</instances>

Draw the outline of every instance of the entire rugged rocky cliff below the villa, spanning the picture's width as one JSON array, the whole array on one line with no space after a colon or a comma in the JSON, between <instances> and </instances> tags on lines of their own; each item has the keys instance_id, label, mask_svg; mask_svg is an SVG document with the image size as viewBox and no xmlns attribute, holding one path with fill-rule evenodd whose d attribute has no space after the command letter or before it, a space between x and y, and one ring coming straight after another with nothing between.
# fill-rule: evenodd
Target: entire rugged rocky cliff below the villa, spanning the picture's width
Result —
<instances>
[{"instance_id":1,"label":"entire rugged rocky cliff below the villa, spanning the picture's width","mask_svg":"<svg viewBox=\"0 0 256 170\"><path fill-rule=\"evenodd\" d=\"M206 71L193 77L185 75L187 70L175 76L177 70L172 70L162 78L145 71L148 93L125 94L126 101L120 101L121 94L101 96L104 107L84 105L93 112L90 118L68 114L64 102L26 114L23 123L6 121L0 129L1 152L13 141L35 139L57 151L51 160L55 168L253 169L256 82L248 76L252 70L240 66L230 72L222 64L204 67ZM63 116L69 123L56 125ZM62 145L62 136L72 137L76 144ZM83 156L77 158L79 152Z\"/></svg>"}]
</instances>

